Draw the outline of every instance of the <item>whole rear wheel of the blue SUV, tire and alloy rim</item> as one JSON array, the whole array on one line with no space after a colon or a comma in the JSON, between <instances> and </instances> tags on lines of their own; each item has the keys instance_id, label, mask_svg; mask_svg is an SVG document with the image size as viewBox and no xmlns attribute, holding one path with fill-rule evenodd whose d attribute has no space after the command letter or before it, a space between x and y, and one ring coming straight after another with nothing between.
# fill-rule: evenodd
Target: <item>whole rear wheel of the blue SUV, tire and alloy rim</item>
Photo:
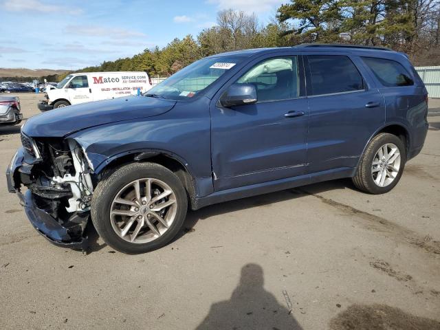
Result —
<instances>
[{"instance_id":1,"label":"whole rear wheel of the blue SUV, tire and alloy rim","mask_svg":"<svg viewBox=\"0 0 440 330\"><path fill-rule=\"evenodd\" d=\"M393 155L389 157L389 160L392 161L393 157L396 157L396 160L392 165L387 165L387 162L384 159L384 157L386 158L387 156L384 155L384 148L386 146L388 146L386 149L390 151L389 153L387 151L387 155ZM394 151L394 146L397 147L397 151ZM393 151L394 153L392 153ZM399 153L399 159L397 157L397 152ZM384 157L381 158L380 153L382 153ZM397 160L399 160L398 166ZM404 172L405 163L406 146L404 142L396 135L390 133L377 134L373 137L368 146L366 146L364 154L358 164L355 176L352 178L353 184L356 188L364 192L369 192L370 194L384 194L397 185ZM382 180L380 179L383 179L383 177L379 177L380 175L385 175L385 181L382 186Z\"/></svg>"}]
</instances>

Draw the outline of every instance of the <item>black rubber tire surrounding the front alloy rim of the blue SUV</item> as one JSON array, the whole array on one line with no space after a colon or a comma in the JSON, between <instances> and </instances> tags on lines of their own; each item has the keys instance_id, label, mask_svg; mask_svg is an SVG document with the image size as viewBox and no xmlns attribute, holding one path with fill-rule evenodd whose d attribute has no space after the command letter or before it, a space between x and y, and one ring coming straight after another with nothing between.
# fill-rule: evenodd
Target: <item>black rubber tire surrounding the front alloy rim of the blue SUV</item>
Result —
<instances>
[{"instance_id":1,"label":"black rubber tire surrounding the front alloy rim of the blue SUV","mask_svg":"<svg viewBox=\"0 0 440 330\"><path fill-rule=\"evenodd\" d=\"M113 199L124 186L144 178L159 179L168 184L175 193L177 213L168 230L159 238L148 243L131 243L122 239L113 230L110 221L110 208ZM91 201L91 221L98 234L111 248L126 254L140 254L157 250L168 244L184 225L187 208L186 191L177 175L159 164L131 163L106 173L102 181L99 182Z\"/></svg>"}]
</instances>

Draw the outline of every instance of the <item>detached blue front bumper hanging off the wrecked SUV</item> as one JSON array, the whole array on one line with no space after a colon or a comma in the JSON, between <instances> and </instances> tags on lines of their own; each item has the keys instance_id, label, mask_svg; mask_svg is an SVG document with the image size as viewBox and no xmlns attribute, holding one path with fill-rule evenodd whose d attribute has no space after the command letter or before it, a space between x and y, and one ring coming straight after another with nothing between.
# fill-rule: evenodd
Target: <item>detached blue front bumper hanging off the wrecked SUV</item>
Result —
<instances>
[{"instance_id":1,"label":"detached blue front bumper hanging off the wrecked SUV","mask_svg":"<svg viewBox=\"0 0 440 330\"><path fill-rule=\"evenodd\" d=\"M39 201L40 197L34 195L30 190L23 194L20 185L32 169L32 164L25 163L24 159L25 151L23 148L19 148L6 170L9 192L17 193L30 223L45 239L65 248L85 250L88 245L88 238L84 235L84 232L89 213L76 212L72 213L67 219L56 219L50 214L52 212L49 208L45 209L45 202Z\"/></svg>"}]
</instances>

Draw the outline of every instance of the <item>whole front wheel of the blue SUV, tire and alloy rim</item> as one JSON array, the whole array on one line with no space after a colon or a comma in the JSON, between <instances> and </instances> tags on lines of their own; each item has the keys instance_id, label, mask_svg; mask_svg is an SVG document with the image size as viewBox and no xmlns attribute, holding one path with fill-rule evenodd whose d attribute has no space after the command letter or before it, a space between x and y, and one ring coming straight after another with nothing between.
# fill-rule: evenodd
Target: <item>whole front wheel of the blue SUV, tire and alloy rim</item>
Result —
<instances>
[{"instance_id":1,"label":"whole front wheel of the blue SUV, tire and alloy rim","mask_svg":"<svg viewBox=\"0 0 440 330\"><path fill-rule=\"evenodd\" d=\"M146 178L148 178L148 184L151 187L150 194L146 193ZM140 187L142 187L139 188L139 194L132 186L135 181L140 181ZM153 195L151 202L157 195L162 195L159 184L166 186L168 192L169 189L172 191L171 195L168 196L168 200L166 200L167 197L159 199L158 201L162 201L162 203L154 203L153 208L150 202L146 203L141 199L142 203L146 203L144 206L137 202L138 199L135 195ZM121 197L121 194L125 194L126 191L129 191L129 193ZM164 194L165 189L163 191ZM154 193L157 195L154 195ZM146 197L142 198L146 199ZM124 203L127 199L131 199L133 203L140 205L140 207L135 208L135 206L125 206L124 203L118 203L121 199L124 200ZM163 202L163 200L166 201ZM164 219L168 221L168 223L165 223L167 226L165 226L162 224L163 222L161 223L156 218L159 212L163 211L154 212L154 214L157 213L154 217L153 211L156 207L160 208L161 204L171 201L173 201L173 204L164 207L165 215L161 217L161 221L164 221ZM124 208L122 212L130 212L130 214L120 215L120 208ZM140 254L157 250L168 244L184 225L187 208L186 191L177 175L159 164L131 163L113 172L106 173L102 181L99 182L91 201L91 221L94 223L98 234L111 248L126 254ZM169 212L171 213L168 214ZM133 216L133 214L135 215ZM136 219L133 220L133 217ZM138 220L139 218L141 220ZM141 221L143 221L143 224ZM129 227L126 234L123 234L126 225L129 225L129 223L131 223L131 227ZM153 228L151 227L152 223ZM140 230L137 230L138 225L141 228ZM138 234L135 234L135 232ZM135 237L134 241L133 236Z\"/></svg>"}]
</instances>

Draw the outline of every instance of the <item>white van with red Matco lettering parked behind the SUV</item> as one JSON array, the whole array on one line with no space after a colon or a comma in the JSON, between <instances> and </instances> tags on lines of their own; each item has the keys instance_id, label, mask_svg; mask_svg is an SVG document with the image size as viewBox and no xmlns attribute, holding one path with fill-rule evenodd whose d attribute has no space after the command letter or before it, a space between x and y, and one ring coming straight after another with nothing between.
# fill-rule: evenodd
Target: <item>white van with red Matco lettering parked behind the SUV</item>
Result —
<instances>
[{"instance_id":1,"label":"white van with red Matco lettering parked behind the SUV","mask_svg":"<svg viewBox=\"0 0 440 330\"><path fill-rule=\"evenodd\" d=\"M151 89L146 72L81 72L69 74L56 87L47 85L46 99L39 109L67 107L71 104L137 95Z\"/></svg>"}]
</instances>

